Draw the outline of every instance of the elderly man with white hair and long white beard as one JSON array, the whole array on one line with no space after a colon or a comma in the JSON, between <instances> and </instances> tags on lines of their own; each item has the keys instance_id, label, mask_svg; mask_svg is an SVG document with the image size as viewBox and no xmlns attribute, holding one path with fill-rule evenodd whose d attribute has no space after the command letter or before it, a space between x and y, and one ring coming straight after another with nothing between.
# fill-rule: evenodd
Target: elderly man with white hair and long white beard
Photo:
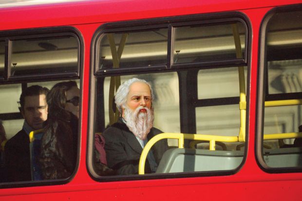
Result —
<instances>
[{"instance_id":1,"label":"elderly man with white hair and long white beard","mask_svg":"<svg viewBox=\"0 0 302 201\"><path fill-rule=\"evenodd\" d=\"M151 86L142 79L132 78L116 91L115 104L121 117L102 134L108 166L118 175L138 173L138 162L144 146L156 134L153 128L154 96ZM148 154L145 172L154 173L168 149L167 139L157 142Z\"/></svg>"}]
</instances>

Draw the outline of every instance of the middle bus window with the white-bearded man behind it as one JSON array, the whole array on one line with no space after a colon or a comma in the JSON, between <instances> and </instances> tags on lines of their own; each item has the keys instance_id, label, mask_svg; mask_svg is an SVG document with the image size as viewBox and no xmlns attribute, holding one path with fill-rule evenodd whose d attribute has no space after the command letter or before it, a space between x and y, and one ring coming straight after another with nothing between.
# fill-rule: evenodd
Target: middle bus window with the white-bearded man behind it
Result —
<instances>
[{"instance_id":1,"label":"middle bus window with the white-bearded man behind it","mask_svg":"<svg viewBox=\"0 0 302 201\"><path fill-rule=\"evenodd\" d=\"M112 29L105 26L95 35L89 165L96 178L123 175L123 180L131 180L134 175L145 173L156 178L156 174L162 173L175 177L169 173L193 176L208 171L231 174L243 162L248 69L246 25L241 19L207 21L207 24L194 21L181 26L175 22L171 19L157 25L168 27L165 29L154 26L149 29L135 23L133 30L130 22L125 28L129 31L122 33L121 25L113 23L108 26ZM217 29L224 30L223 34L217 34ZM119 32L115 34L114 30ZM221 40L226 43L217 43ZM109 60L105 62L106 58ZM130 119L124 113L126 109L115 105L120 103L114 97L119 87L125 87L123 83L134 77L150 83L154 94L152 126L159 132L156 137L148 138L148 144L141 142L144 139L134 134L136 128L127 123ZM132 93L131 86L127 86L128 94ZM125 97L124 101L128 104ZM148 135L154 135L153 128ZM157 163L154 164L148 149L154 145L151 149L156 155L163 141L168 142L168 149L159 161L154 158ZM104 143L104 152L100 151L100 142ZM135 154L130 153L133 149Z\"/></svg>"}]
</instances>

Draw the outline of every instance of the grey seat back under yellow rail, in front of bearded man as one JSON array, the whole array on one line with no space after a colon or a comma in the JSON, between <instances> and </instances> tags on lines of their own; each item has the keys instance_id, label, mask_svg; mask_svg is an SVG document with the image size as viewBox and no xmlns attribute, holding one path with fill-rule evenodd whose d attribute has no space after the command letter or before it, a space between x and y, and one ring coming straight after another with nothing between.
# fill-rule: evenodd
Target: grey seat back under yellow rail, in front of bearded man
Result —
<instances>
[{"instance_id":1,"label":"grey seat back under yellow rail, in front of bearded man","mask_svg":"<svg viewBox=\"0 0 302 201\"><path fill-rule=\"evenodd\" d=\"M190 148L167 150L156 173L230 170L243 161L244 151L221 151Z\"/></svg>"}]
</instances>

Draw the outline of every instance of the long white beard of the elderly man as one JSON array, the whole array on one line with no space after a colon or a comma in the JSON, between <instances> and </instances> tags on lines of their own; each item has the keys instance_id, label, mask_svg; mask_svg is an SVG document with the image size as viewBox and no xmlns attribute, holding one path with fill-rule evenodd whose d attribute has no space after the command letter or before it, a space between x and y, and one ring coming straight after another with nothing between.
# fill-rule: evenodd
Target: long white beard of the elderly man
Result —
<instances>
[{"instance_id":1,"label":"long white beard of the elderly man","mask_svg":"<svg viewBox=\"0 0 302 201\"><path fill-rule=\"evenodd\" d=\"M145 109L147 112L139 112ZM132 112L131 109L125 107L124 119L129 130L139 139L145 140L150 129L153 127L153 110L140 106Z\"/></svg>"}]
</instances>

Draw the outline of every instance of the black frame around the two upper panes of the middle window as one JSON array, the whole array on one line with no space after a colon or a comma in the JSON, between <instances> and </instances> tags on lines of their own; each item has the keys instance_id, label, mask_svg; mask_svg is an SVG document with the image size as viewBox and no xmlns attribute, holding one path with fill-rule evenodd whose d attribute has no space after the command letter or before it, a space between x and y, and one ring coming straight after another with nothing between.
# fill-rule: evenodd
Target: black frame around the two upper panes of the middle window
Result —
<instances>
[{"instance_id":1,"label":"black frame around the two upper panes of the middle window","mask_svg":"<svg viewBox=\"0 0 302 201\"><path fill-rule=\"evenodd\" d=\"M156 20L157 19L157 20ZM182 27L182 26L192 26L192 25L210 25L210 24L223 24L231 22L241 22L245 26L245 30L247 36L245 36L245 52L243 58L239 59L225 59L225 60L215 60L215 61L205 61L205 62L191 62L191 63L180 63L180 64L173 64L173 55L171 55L172 50L172 32L173 28L175 27ZM242 66L243 64L246 65L249 63L247 58L248 47L250 46L248 43L248 37L250 34L250 21L245 16L245 14L241 12L226 12L226 13L216 13L216 14L196 14L190 15L190 18L187 16L177 16L177 17L170 17L170 18L152 18L152 19L143 19L143 20L130 20L128 23L125 22L112 22L112 23L105 23L101 25L94 33L93 40L92 40L92 51L94 51L94 57L92 58L93 61L93 69L94 75L97 74L115 74L115 73L131 73L133 69L137 70L137 72L145 72L145 71L152 71L156 70L165 70L165 69L183 69L183 68L210 68L212 66L221 65L221 66ZM142 28L144 27L144 28ZM139 66L139 67L127 67L127 68L120 68L120 69L97 69L97 53L98 53L98 38L102 34L108 33L124 33L127 31L148 31L151 29L159 29L159 28L168 28L168 47L167 47L167 64L166 65L154 65L154 66Z\"/></svg>"}]
</instances>

